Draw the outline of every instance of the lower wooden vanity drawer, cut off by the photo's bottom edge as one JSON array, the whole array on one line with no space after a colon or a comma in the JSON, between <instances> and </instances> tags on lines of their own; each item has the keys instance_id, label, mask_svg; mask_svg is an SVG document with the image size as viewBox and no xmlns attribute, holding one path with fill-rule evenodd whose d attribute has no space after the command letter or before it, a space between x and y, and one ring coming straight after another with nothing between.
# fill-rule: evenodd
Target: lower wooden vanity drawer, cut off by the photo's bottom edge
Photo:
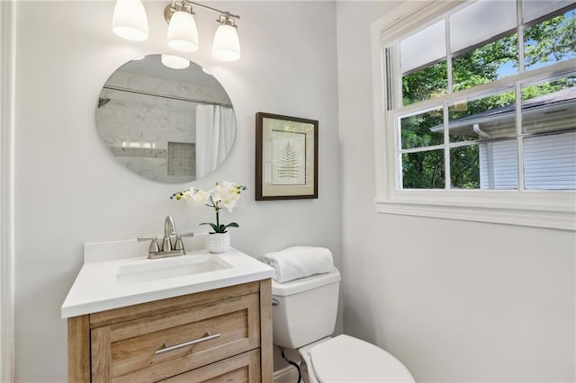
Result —
<instances>
[{"instance_id":1,"label":"lower wooden vanity drawer, cut off by the photo's bottom edge","mask_svg":"<svg viewBox=\"0 0 576 383\"><path fill-rule=\"evenodd\" d=\"M162 383L257 383L260 382L260 351L241 353L200 369L161 380Z\"/></svg>"}]
</instances>

